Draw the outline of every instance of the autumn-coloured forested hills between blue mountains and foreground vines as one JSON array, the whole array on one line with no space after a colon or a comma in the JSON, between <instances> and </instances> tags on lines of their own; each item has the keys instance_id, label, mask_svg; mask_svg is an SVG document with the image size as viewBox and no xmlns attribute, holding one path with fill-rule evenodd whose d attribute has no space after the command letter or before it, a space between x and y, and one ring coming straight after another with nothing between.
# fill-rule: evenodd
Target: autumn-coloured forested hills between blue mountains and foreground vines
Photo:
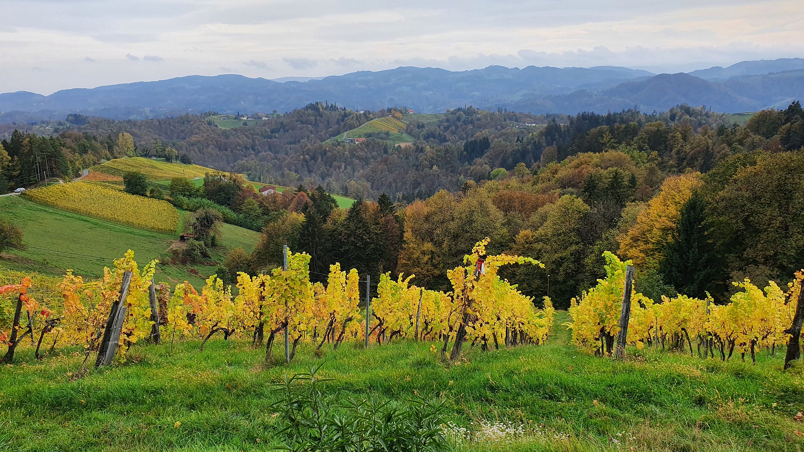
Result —
<instances>
[{"instance_id":1,"label":"autumn-coloured forested hills between blue mountains and foreground vines","mask_svg":"<svg viewBox=\"0 0 804 452\"><path fill-rule=\"evenodd\" d=\"M171 153L252 180L301 185L276 199L256 197L257 204L245 203L236 193L248 190L237 188L218 202L232 218L269 222L248 264L239 265L271 267L289 244L308 251L321 273L341 262L375 278L404 271L427 287L446 287L445 269L461 259L463 244L489 236L494 250L548 266L558 306L602 276L605 250L634 259L643 268L638 284L654 299L675 291L723 296L745 277L786 283L802 265L798 102L758 112L745 126L686 106L568 117L460 108L435 120L406 117L412 145L324 142L389 113L401 114L310 104L228 130L201 116L92 119L58 136L14 132L2 141L3 175L13 187L43 168L69 176L116 155ZM325 190L379 202L342 210ZM546 294L543 272L516 272L527 295Z\"/></svg>"}]
</instances>

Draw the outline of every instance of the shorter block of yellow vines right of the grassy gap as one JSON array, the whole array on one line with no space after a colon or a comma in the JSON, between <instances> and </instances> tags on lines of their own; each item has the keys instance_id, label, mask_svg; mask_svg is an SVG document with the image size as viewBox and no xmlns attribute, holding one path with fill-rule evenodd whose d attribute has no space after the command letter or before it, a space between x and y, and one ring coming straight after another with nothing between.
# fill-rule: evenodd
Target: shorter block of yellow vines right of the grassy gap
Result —
<instances>
[{"instance_id":1,"label":"shorter block of yellow vines right of the grassy gap","mask_svg":"<svg viewBox=\"0 0 804 452\"><path fill-rule=\"evenodd\" d=\"M614 338L621 331L626 265L630 265L608 251L605 259L605 279L598 279L597 286L585 291L580 300L572 299L572 322L566 324L572 329L573 342L597 355L613 354ZM758 348L773 353L790 340L802 279L804 270L796 273L786 291L773 281L761 290L745 279L734 283L739 291L726 304L714 303L711 296L696 299L685 295L662 296L656 302L632 288L626 341L640 350L646 345L680 351L688 347L693 354L695 340L699 356L704 348L704 356L727 360L738 352L745 360L750 353L756 362Z\"/></svg>"}]
</instances>

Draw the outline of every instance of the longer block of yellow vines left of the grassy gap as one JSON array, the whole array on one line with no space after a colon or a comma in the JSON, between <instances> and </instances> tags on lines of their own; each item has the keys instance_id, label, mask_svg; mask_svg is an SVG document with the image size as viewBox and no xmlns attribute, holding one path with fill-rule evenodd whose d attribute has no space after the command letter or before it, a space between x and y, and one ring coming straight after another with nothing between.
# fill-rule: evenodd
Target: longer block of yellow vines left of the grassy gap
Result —
<instances>
[{"instance_id":1,"label":"longer block of yellow vines left of the grassy gap","mask_svg":"<svg viewBox=\"0 0 804 452\"><path fill-rule=\"evenodd\" d=\"M270 362L273 341L285 330L292 348L286 360L292 360L297 345L318 342L318 348L330 341L338 348L344 340L375 341L382 344L395 338L443 341L441 356L453 340L456 359L465 336L474 346L487 350L501 344L541 344L552 327L553 308L545 297L544 310L535 311L532 299L516 291L515 286L500 279L499 267L510 264L539 265L533 259L518 256L486 256L488 239L478 242L473 254L466 256L467 267L449 272L453 291L449 293L425 290L410 283L413 276L395 280L381 276L377 296L369 304L370 318L361 314L359 275L355 269L348 273L338 264L330 267L326 287L310 282L310 255L287 256L285 268L270 275L250 276L240 273L238 295L224 287L215 275L200 291L190 283L178 284L171 294L166 284L153 287L150 293L156 261L137 270L133 251L115 261L103 279L85 283L80 276L68 271L59 283L62 299L35 298L27 295L26 287L9 284L6 292L18 292L23 300L13 322L4 322L3 342L9 344L7 360L14 355L18 343L15 332L38 337L35 356L40 356L43 340L52 340L51 348L83 346L87 353L96 350L104 332L106 319L119 295L125 297L125 320L119 332L121 355L137 341L158 334L160 328L171 332L175 339L199 339L203 344L216 333L225 339L250 338L261 343L267 333L266 363ZM482 271L477 270L482 267ZM124 275L130 273L127 292L121 289ZM127 280L128 281L128 280ZM158 293L158 295L157 295ZM24 298L23 299L23 295ZM6 313L14 312L13 300L8 299ZM20 323L20 312L26 312L27 323ZM108 329L108 328L107 328ZM52 337L52 338L51 338ZM435 346L433 346L435 347ZM456 352L457 350L457 352Z\"/></svg>"}]
</instances>

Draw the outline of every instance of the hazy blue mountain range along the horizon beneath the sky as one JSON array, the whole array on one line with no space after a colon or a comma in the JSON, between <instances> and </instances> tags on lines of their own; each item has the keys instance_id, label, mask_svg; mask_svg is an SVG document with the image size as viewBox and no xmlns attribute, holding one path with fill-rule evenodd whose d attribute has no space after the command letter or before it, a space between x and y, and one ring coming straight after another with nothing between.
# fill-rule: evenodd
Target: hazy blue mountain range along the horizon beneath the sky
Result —
<instances>
[{"instance_id":1,"label":"hazy blue mountain range along the horizon beneath the sky","mask_svg":"<svg viewBox=\"0 0 804 452\"><path fill-rule=\"evenodd\" d=\"M520 112L643 112L677 104L719 112L752 112L804 97L804 59L744 61L689 74L653 74L627 67L490 66L472 71L397 67L323 78L251 79L190 75L154 82L75 88L42 96L0 94L0 123L14 118L64 117L71 112L113 119L175 116L184 112L279 112L327 100L355 110L404 106L443 112L472 104ZM24 118L24 119L23 119Z\"/></svg>"}]
</instances>

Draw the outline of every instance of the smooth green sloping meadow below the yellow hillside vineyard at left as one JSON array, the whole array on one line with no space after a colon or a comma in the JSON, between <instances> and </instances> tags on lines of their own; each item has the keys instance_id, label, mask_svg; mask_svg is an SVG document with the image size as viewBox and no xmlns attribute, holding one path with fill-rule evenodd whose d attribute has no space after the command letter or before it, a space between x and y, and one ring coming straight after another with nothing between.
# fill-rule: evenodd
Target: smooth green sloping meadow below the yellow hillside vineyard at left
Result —
<instances>
[{"instance_id":1,"label":"smooth green sloping meadow below the yellow hillside vineyard at left","mask_svg":"<svg viewBox=\"0 0 804 452\"><path fill-rule=\"evenodd\" d=\"M0 267L46 275L64 275L64 271L71 269L76 275L98 278L103 276L104 267L110 267L113 259L129 249L134 250L137 263L151 259L167 263L166 251L178 238L176 234L160 234L73 214L18 196L0 197L0 212L3 218L23 230L23 242L29 246L26 250L9 250L0 255ZM260 238L260 234L252 230L225 223L222 234L224 248L213 251L213 260L217 262L236 246L250 252ZM215 268L217 264L162 265L157 280L171 284L188 280L199 287L204 278L215 273ZM190 270L198 271L199 275Z\"/></svg>"}]
</instances>

